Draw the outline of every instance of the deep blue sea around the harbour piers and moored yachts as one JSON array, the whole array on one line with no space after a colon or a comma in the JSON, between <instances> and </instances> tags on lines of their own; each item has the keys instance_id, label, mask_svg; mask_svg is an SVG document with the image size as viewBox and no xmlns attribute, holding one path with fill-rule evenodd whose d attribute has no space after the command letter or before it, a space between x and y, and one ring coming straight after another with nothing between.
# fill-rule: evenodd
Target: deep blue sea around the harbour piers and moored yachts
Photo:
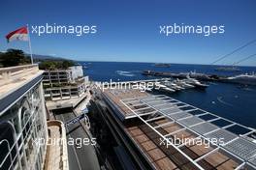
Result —
<instances>
[{"instance_id":1,"label":"deep blue sea around the harbour piers and moored yachts","mask_svg":"<svg viewBox=\"0 0 256 170\"><path fill-rule=\"evenodd\" d=\"M129 81L153 79L145 76L144 70L187 72L196 71L209 74L235 75L256 72L256 67L240 67L239 72L215 71L216 66L171 64L170 68L155 67L152 63L122 62L80 62L84 74L94 81ZM235 121L246 127L256 128L256 87L210 82L205 91L196 89L173 93L172 98L190 103L208 112Z\"/></svg>"}]
</instances>

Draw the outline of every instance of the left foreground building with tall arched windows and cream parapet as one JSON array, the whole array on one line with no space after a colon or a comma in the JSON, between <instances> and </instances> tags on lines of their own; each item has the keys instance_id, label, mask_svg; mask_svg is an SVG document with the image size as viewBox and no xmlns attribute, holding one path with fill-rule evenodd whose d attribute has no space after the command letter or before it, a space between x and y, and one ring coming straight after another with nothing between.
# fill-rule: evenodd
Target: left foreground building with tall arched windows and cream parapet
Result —
<instances>
[{"instance_id":1,"label":"left foreground building with tall arched windows and cream parapet","mask_svg":"<svg viewBox=\"0 0 256 170\"><path fill-rule=\"evenodd\" d=\"M0 69L0 169L44 166L47 119L43 71L37 65Z\"/></svg>"}]
</instances>

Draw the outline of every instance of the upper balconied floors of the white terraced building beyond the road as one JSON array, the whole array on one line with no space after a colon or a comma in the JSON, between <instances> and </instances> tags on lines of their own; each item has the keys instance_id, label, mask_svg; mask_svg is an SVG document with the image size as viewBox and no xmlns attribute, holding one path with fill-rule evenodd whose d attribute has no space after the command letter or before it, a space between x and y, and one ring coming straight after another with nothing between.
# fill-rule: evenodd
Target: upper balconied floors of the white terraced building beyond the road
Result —
<instances>
[{"instance_id":1,"label":"upper balconied floors of the white terraced building beyond the road","mask_svg":"<svg viewBox=\"0 0 256 170\"><path fill-rule=\"evenodd\" d=\"M45 71L43 84L45 98L50 100L80 98L86 91L86 78L81 66Z\"/></svg>"}]
</instances>

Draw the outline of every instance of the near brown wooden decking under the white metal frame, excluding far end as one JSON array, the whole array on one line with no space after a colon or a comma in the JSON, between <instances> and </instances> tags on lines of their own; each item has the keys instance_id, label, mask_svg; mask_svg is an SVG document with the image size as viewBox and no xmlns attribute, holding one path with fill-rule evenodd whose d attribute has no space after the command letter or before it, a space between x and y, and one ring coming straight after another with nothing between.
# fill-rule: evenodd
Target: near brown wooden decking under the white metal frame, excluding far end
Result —
<instances>
[{"instance_id":1,"label":"near brown wooden decking under the white metal frame, excluding far end","mask_svg":"<svg viewBox=\"0 0 256 170\"><path fill-rule=\"evenodd\" d=\"M168 134L169 132L175 131L178 128L180 127L174 123L170 126L162 128L161 130L162 132L166 132L166 134ZM142 150L144 156L146 156L149 162L154 165L155 169L198 169L188 159L178 153L174 147L167 147L161 144L160 136L143 123L140 125L127 125L126 130L127 133L130 134L130 137L137 144L137 146ZM176 139L180 140L197 137L196 135L186 130L177 132L174 135L176 135ZM174 135L170 137L174 138ZM213 150L213 148L204 144L188 144L181 147L181 151L193 159L204 156L211 150ZM235 169L239 165L238 162L228 156L224 156L220 152L206 156L206 158L199 161L199 164L205 169L223 170Z\"/></svg>"}]
</instances>

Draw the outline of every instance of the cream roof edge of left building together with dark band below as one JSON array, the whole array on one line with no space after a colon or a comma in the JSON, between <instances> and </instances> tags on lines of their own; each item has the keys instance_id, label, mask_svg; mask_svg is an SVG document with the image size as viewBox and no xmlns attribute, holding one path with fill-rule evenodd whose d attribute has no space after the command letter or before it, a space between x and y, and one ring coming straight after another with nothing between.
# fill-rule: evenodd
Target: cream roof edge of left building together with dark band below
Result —
<instances>
[{"instance_id":1,"label":"cream roof edge of left building together with dark band below","mask_svg":"<svg viewBox=\"0 0 256 170\"><path fill-rule=\"evenodd\" d=\"M40 83L43 72L38 65L25 65L0 69L0 115L11 108L17 99Z\"/></svg>"}]
</instances>

